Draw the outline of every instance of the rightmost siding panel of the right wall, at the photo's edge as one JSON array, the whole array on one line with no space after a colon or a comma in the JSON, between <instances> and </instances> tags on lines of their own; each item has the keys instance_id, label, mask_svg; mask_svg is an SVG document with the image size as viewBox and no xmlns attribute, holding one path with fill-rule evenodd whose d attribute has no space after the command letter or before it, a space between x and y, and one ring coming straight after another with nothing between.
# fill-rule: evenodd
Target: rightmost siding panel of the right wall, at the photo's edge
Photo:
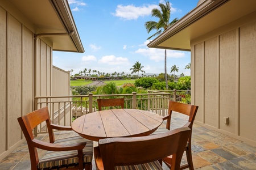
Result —
<instances>
[{"instance_id":1,"label":"rightmost siding panel of the right wall, at the photo's edge","mask_svg":"<svg viewBox=\"0 0 256 170\"><path fill-rule=\"evenodd\" d=\"M256 141L256 22L240 28L240 135Z\"/></svg>"}]
</instances>

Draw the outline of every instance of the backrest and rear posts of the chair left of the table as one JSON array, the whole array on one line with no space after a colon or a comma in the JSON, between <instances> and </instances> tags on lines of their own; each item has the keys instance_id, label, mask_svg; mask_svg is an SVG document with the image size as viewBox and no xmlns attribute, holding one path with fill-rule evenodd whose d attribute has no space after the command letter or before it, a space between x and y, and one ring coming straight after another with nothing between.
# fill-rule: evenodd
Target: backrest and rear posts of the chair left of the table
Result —
<instances>
[{"instance_id":1,"label":"backrest and rear posts of the chair left of the table","mask_svg":"<svg viewBox=\"0 0 256 170\"><path fill-rule=\"evenodd\" d=\"M33 129L44 121L46 121L47 129L49 133L49 140L51 143L53 143L55 138L53 135L53 129L50 126L51 120L49 118L48 107L38 109L34 112L28 113L25 116L18 118L20 128L22 129L23 134L27 141L31 162L35 162L35 164L38 164L39 158L38 158L38 151L36 150L36 147L33 145L33 142L32 142L32 140L34 139Z\"/></svg>"}]
</instances>

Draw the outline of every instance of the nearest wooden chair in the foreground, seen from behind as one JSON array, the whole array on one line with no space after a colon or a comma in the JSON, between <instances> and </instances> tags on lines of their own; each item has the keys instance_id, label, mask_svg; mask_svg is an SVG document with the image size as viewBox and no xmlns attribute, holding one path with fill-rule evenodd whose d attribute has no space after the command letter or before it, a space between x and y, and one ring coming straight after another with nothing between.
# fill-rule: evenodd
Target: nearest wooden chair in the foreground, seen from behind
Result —
<instances>
[{"instance_id":1,"label":"nearest wooden chair in the foreground, seen from behind","mask_svg":"<svg viewBox=\"0 0 256 170\"><path fill-rule=\"evenodd\" d=\"M173 155L171 169L179 169L191 129L134 138L101 139L94 147L98 169L163 169L162 158Z\"/></svg>"}]
</instances>

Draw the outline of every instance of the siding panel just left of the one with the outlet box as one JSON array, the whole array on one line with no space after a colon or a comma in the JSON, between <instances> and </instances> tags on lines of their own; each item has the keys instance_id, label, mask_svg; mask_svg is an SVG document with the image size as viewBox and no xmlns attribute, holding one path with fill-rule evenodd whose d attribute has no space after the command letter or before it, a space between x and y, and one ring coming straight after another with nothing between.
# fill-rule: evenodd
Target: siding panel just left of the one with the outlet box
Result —
<instances>
[{"instance_id":1,"label":"siding panel just left of the one with the outlet box","mask_svg":"<svg viewBox=\"0 0 256 170\"><path fill-rule=\"evenodd\" d=\"M205 41L205 124L217 128L217 37Z\"/></svg>"}]
</instances>

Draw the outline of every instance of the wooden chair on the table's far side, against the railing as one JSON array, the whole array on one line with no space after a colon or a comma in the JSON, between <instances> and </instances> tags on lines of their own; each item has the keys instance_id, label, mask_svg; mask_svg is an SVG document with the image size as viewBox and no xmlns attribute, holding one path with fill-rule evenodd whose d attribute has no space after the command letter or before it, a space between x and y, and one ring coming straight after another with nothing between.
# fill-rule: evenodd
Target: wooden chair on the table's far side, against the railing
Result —
<instances>
[{"instance_id":1,"label":"wooden chair on the table's far side, against the railing","mask_svg":"<svg viewBox=\"0 0 256 170\"><path fill-rule=\"evenodd\" d=\"M125 98L119 99L97 99L98 111L102 110L102 107L115 107L121 106L123 109L125 107Z\"/></svg>"}]
</instances>

